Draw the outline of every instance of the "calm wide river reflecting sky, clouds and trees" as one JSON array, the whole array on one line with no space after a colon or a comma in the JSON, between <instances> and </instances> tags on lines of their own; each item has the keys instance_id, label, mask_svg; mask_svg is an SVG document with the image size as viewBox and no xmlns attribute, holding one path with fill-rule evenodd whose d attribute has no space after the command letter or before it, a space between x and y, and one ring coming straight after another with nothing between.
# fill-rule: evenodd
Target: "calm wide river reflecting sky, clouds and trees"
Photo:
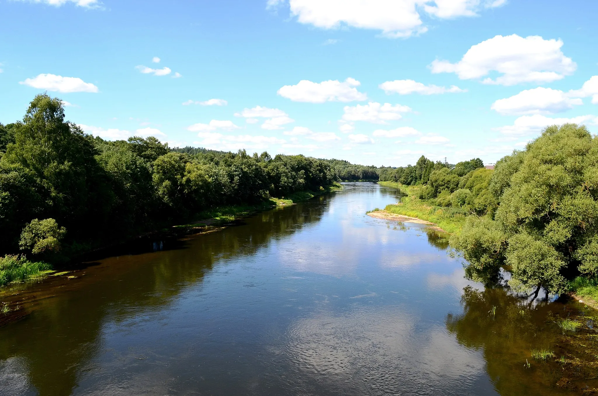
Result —
<instances>
[{"instance_id":1,"label":"calm wide river reflecting sky, clouds and trees","mask_svg":"<svg viewBox=\"0 0 598 396\"><path fill-rule=\"evenodd\" d=\"M344 184L5 291L19 320L0 327L0 394L546 396L596 386L585 368L530 357L572 356L552 318L590 315L583 304L527 304L467 281L425 226L365 215L397 200L377 184Z\"/></svg>"}]
</instances>

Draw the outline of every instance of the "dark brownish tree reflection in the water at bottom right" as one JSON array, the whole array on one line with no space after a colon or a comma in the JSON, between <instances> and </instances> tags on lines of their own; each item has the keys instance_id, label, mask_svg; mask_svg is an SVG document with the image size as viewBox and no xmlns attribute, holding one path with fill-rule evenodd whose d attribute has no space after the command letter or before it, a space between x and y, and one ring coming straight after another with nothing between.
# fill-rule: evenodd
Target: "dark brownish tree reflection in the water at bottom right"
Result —
<instances>
[{"instance_id":1,"label":"dark brownish tree reflection in the water at bottom right","mask_svg":"<svg viewBox=\"0 0 598 396\"><path fill-rule=\"evenodd\" d=\"M598 316L591 316L596 313L579 310L572 301L522 300L503 288L466 287L461 303L461 315L447 315L447 330L461 345L483 351L487 373L501 395L597 394L593 322ZM580 330L564 334L558 325L564 318L581 322ZM554 357L535 360L532 349Z\"/></svg>"}]
</instances>

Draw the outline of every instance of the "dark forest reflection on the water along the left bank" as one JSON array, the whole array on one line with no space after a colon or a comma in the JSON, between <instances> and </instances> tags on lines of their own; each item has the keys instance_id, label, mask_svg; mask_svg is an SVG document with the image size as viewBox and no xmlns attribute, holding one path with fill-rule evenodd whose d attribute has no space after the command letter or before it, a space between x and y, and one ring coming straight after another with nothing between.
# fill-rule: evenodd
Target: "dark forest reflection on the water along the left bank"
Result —
<instances>
[{"instance_id":1,"label":"dark forest reflection on the water along the left bank","mask_svg":"<svg viewBox=\"0 0 598 396\"><path fill-rule=\"evenodd\" d=\"M177 249L106 258L73 272L76 278L50 277L21 285L19 293L4 291L1 301L16 309L8 315L22 320L0 327L0 389L15 395L71 394L78 376L95 369L90 362L103 351L106 322L164 309L184 288L202 282L216 261L254 255L318 222L330 200L319 196L262 212L247 218L245 226L188 236Z\"/></svg>"}]
</instances>

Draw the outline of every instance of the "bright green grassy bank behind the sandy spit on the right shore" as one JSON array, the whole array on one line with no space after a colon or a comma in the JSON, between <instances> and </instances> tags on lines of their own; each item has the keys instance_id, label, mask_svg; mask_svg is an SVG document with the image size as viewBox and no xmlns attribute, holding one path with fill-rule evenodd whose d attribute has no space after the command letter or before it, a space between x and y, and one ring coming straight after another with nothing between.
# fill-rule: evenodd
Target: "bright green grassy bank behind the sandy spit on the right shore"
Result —
<instances>
[{"instance_id":1,"label":"bright green grassy bank behind the sandy spit on the right shore","mask_svg":"<svg viewBox=\"0 0 598 396\"><path fill-rule=\"evenodd\" d=\"M387 205L384 209L386 212L431 221L451 234L459 233L463 224L465 224L466 214L463 211L435 206L427 201L420 200L418 198L419 191L423 186L405 186L392 181L380 181L378 184L384 187L397 188L406 194L406 196L402 197L401 202Z\"/></svg>"}]
</instances>

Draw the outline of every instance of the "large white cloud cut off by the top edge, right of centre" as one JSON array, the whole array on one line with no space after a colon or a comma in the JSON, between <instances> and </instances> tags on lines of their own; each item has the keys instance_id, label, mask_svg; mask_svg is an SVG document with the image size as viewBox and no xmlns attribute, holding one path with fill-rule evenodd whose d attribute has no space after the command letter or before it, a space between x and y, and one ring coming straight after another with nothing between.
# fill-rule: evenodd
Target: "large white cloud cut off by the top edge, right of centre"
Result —
<instances>
[{"instance_id":1,"label":"large white cloud cut off by the top edge, right of centre","mask_svg":"<svg viewBox=\"0 0 598 396\"><path fill-rule=\"evenodd\" d=\"M274 8L285 0L268 0ZM351 26L382 31L382 36L399 38L428 31L420 10L431 16L450 19L476 16L483 8L499 7L505 0L289 0L297 21L322 29ZM423 7L422 7L423 6Z\"/></svg>"}]
</instances>

